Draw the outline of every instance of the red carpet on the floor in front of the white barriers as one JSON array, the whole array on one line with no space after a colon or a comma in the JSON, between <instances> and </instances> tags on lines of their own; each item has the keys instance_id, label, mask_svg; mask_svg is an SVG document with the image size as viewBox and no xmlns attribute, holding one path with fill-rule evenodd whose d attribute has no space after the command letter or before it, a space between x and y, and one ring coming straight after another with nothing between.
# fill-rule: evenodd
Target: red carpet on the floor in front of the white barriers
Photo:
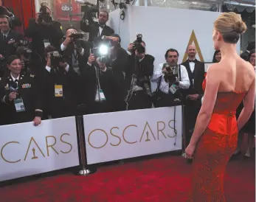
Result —
<instances>
[{"instance_id":1,"label":"red carpet on the floor in front of the white barriers","mask_svg":"<svg viewBox=\"0 0 256 202\"><path fill-rule=\"evenodd\" d=\"M191 165L180 156L155 157L100 167L89 176L71 173L0 188L3 202L187 201ZM255 156L230 161L225 195L229 202L255 201Z\"/></svg>"}]
</instances>

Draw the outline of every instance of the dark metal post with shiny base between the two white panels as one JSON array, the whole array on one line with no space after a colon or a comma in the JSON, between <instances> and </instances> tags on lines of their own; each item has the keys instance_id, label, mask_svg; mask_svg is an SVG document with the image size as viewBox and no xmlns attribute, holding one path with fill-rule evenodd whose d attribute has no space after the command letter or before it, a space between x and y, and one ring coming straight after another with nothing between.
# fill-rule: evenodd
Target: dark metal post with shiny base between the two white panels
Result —
<instances>
[{"instance_id":1,"label":"dark metal post with shiny base between the two white panels","mask_svg":"<svg viewBox=\"0 0 256 202\"><path fill-rule=\"evenodd\" d=\"M80 162L82 164L82 169L79 171L79 175L89 175L91 171L86 169L86 155L85 155L85 141L83 136L83 116L77 116L77 131L80 145Z\"/></svg>"}]
</instances>

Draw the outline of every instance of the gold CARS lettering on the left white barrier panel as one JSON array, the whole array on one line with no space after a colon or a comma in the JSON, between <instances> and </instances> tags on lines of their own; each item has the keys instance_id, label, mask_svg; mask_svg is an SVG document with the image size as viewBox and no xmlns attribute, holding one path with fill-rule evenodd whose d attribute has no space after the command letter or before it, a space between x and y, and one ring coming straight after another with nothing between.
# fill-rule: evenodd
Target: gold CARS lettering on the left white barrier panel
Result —
<instances>
[{"instance_id":1,"label":"gold CARS lettering on the left white barrier panel","mask_svg":"<svg viewBox=\"0 0 256 202\"><path fill-rule=\"evenodd\" d=\"M59 156L67 154L72 151L72 143L66 138L71 136L69 133L63 133L60 136L45 136L45 139L40 141L33 136L30 137L29 142L12 141L4 145L0 145L0 161L3 160L9 164L18 163L19 161L27 161L27 159L42 159L46 157ZM39 144L38 144L39 143ZM13 153L15 147L24 150L24 153ZM63 147L63 149L60 149ZM43 152L44 151L44 152Z\"/></svg>"}]
</instances>

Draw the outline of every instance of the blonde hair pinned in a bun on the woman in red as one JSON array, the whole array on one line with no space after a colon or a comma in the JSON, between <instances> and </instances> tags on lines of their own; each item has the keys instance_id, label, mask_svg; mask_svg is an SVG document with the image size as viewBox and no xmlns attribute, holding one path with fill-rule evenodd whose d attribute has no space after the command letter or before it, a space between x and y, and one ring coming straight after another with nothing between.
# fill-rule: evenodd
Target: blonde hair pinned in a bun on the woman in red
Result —
<instances>
[{"instance_id":1,"label":"blonde hair pinned in a bun on the woman in red","mask_svg":"<svg viewBox=\"0 0 256 202\"><path fill-rule=\"evenodd\" d=\"M234 12L221 13L214 22L214 28L221 33L226 43L237 43L247 29L241 15Z\"/></svg>"}]
</instances>

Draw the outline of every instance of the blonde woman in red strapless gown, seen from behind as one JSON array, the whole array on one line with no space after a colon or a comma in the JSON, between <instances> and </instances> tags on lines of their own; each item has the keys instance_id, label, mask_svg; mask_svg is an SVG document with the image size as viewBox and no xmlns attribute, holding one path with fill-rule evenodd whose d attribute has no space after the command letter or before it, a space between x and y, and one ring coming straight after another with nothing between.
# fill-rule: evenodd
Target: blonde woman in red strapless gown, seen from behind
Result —
<instances>
[{"instance_id":1,"label":"blonde woman in red strapless gown, seen from behind","mask_svg":"<svg viewBox=\"0 0 256 202\"><path fill-rule=\"evenodd\" d=\"M238 141L238 131L255 107L255 71L240 58L236 43L246 31L241 15L221 13L214 23L212 39L221 61L212 64L204 80L204 100L185 153L193 158L190 201L223 202L224 173ZM238 118L235 111L243 100Z\"/></svg>"}]
</instances>

